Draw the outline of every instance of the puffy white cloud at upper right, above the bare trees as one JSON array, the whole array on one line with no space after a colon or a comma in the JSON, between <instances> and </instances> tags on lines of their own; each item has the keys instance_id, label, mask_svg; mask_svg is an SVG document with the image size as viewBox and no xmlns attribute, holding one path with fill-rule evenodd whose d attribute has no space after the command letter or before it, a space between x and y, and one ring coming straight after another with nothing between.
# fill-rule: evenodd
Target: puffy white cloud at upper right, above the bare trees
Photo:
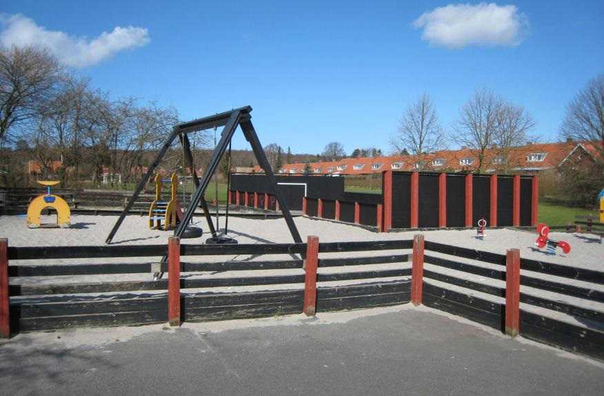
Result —
<instances>
[{"instance_id":1,"label":"puffy white cloud at upper right, above the bare trees","mask_svg":"<svg viewBox=\"0 0 604 396\"><path fill-rule=\"evenodd\" d=\"M433 46L518 46L528 20L516 6L450 4L424 12L413 26L423 28L421 38Z\"/></svg>"}]
</instances>

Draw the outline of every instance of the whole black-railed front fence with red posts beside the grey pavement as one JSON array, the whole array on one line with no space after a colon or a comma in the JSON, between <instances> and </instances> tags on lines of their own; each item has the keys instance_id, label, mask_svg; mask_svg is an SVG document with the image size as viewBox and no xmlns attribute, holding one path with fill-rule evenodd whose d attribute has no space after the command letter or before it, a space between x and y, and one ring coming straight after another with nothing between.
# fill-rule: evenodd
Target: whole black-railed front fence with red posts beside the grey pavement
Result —
<instances>
[{"instance_id":1,"label":"whole black-railed front fence with red posts beside the grey pavement","mask_svg":"<svg viewBox=\"0 0 604 396\"><path fill-rule=\"evenodd\" d=\"M378 253L382 250L387 254ZM409 250L412 255L407 254ZM320 253L360 251L372 251L376 255L319 257ZM300 255L305 259L201 263L181 261L185 257L197 255L267 254ZM161 265L153 262L9 265L12 260L162 255L168 255L169 259ZM410 259L411 268L408 266ZM401 268L317 273L317 268L384 263L400 263ZM202 271L257 270L261 274L262 270L294 268L303 268L305 273L202 279L181 277L181 273ZM443 270L434 268L441 268L444 273ZM168 279L30 286L9 282L9 277L132 274L153 273L159 270L167 272ZM409 276L411 280L408 279ZM479 277L478 280L476 276ZM403 278L395 281L379 280L384 277ZM561 280L553 281L547 279L549 277ZM345 286L321 286L321 282L325 281L352 279L366 282ZM372 279L371 283L368 283L368 279ZM494 286L488 279L505 281L505 287ZM581 281L587 286L570 284L563 279ZM286 290L242 293L204 293L191 290L276 284L304 284L304 288L292 290L291 287L284 286ZM301 312L314 315L316 312L405 304L412 301L416 305L425 304L460 315L502 330L511 336L520 334L545 344L604 359L604 312L590 308L590 304L581 304L581 300L578 300L604 303L604 292L598 290L598 285L604 285L604 273L596 270L523 259L519 250L514 249L509 250L507 255L499 255L424 241L423 235L416 235L413 240L336 243L319 243L318 238L309 237L306 244L235 246L181 245L177 239L170 239L168 246L70 248L16 248L8 246L6 239L0 239L0 333L8 337L11 332L77 326L138 325L166 321L178 325L183 320L210 321ZM565 302L560 298L543 297L534 290L521 290L521 286L578 299ZM147 293L140 293L142 291ZM479 293L473 293L474 291ZM556 312L572 315L585 326L560 319L556 317Z\"/></svg>"}]
</instances>

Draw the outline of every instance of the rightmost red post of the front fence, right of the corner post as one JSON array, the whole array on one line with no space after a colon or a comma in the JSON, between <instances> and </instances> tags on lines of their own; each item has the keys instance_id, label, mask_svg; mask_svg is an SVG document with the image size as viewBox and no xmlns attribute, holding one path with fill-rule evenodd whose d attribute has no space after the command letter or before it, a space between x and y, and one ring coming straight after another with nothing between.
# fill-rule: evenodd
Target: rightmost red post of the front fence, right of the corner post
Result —
<instances>
[{"instance_id":1,"label":"rightmost red post of the front fence, right of the corner post","mask_svg":"<svg viewBox=\"0 0 604 396\"><path fill-rule=\"evenodd\" d=\"M507 250L505 256L505 334L520 331L520 250Z\"/></svg>"}]
</instances>

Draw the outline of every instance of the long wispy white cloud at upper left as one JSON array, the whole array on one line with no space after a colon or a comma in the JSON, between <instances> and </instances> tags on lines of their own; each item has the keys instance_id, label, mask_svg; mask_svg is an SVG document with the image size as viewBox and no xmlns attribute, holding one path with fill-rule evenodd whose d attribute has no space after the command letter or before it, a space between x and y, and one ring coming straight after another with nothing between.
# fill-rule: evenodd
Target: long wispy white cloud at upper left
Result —
<instances>
[{"instance_id":1,"label":"long wispy white cloud at upper left","mask_svg":"<svg viewBox=\"0 0 604 396\"><path fill-rule=\"evenodd\" d=\"M99 37L88 40L46 30L21 14L0 15L0 23L3 25L1 46L43 46L61 63L76 68L95 65L121 50L144 46L150 41L147 29L133 26L116 26L112 32L102 32Z\"/></svg>"}]
</instances>

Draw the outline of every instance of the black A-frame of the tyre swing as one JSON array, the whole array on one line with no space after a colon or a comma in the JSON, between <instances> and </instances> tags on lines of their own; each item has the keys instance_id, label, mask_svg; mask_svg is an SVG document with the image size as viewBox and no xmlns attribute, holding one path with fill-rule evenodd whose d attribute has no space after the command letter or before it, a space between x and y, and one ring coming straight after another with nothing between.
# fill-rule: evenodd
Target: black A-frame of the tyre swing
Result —
<instances>
[{"instance_id":1,"label":"black A-frame of the tyre swing","mask_svg":"<svg viewBox=\"0 0 604 396\"><path fill-rule=\"evenodd\" d=\"M212 178L212 175L214 175L214 172L216 172L220 159L223 156L225 150L228 148L228 143L231 141L237 126L241 126L241 130L243 130L243 135L245 136L245 139L250 142L250 146L252 146L252 150L254 151L256 160L258 161L258 164L264 170L265 175L268 178L268 186L269 188L272 188L272 194L279 202L279 208L281 208L281 212L283 212L283 217L285 218L285 222L288 224L288 228L290 229L294 241L296 243L302 243L302 239L300 237L298 229L296 228L294 219L292 219L292 215L290 213L288 205L285 202L285 199L283 199L283 195L281 195L281 192L277 188L277 182L274 177L274 173L272 172L270 164L268 164L268 160L266 159L266 155L264 154L264 150L260 144L258 135L256 135L256 130L254 130L254 126L252 125L252 116L250 115L251 111L251 106L245 106L227 112L221 112L210 117L204 117L185 123L179 123L177 126L174 126L174 128L172 129L172 134L170 134L168 140L163 143L163 146L161 147L161 150L159 150L157 157L154 159L152 165L149 167L143 179L141 179L141 182L139 183L139 186L137 186L137 189L134 190L134 194L132 194L132 197L130 197L128 205L126 205L123 212L121 212L119 219L117 219L116 223L114 224L111 232L105 240L105 243L109 244L111 242L119 226L121 226L125 215L128 214L128 211L130 210L130 208L132 208L132 204L134 204L134 201L136 201L136 199L139 197L141 190L143 190L145 184L147 184L155 168L159 166L159 163L161 162L161 159L163 159L165 152L168 151L168 148L170 148L170 146L172 145L172 141L174 141L177 136L180 137L181 143L183 145L185 161L187 162L187 165L190 167L193 173L193 180L195 183L196 190L194 192L194 195L192 195L191 197L191 201L189 203L189 207L185 212L184 218L177 226L176 230L174 230L174 236L181 237L181 235L183 235L185 228L193 217L194 208L196 208L198 204L201 204L203 212L205 213L205 219L206 221L208 221L208 226L210 228L210 232L212 233L212 237L217 237L216 229L214 228L212 217L210 217L210 210L208 210L208 204L205 202L204 195L206 188L208 188L208 184L210 184L210 179ZM212 152L212 159L210 160L208 168L205 168L205 171L203 172L203 178L201 179L201 181L199 181L199 178L197 177L197 174L194 170L193 155L191 153L189 138L187 137L187 134L190 132L196 132L198 130L205 130L219 126L224 126L221 132L220 141L214 148L214 152Z\"/></svg>"}]
</instances>

